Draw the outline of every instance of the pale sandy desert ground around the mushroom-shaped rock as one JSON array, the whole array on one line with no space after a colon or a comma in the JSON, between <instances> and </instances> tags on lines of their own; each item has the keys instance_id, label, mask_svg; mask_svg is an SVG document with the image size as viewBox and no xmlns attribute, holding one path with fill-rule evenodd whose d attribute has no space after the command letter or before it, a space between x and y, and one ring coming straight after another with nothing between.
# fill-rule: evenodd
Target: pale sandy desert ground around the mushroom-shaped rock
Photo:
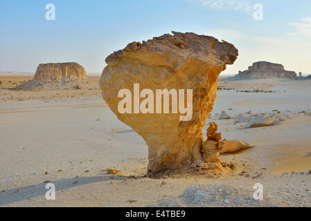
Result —
<instances>
[{"instance_id":1,"label":"pale sandy desert ground around the mushroom-shaped rock","mask_svg":"<svg viewBox=\"0 0 311 221\"><path fill-rule=\"evenodd\" d=\"M254 144L240 153L220 155L238 169L209 178L188 173L150 178L144 176L148 147L103 102L96 86L99 78L90 79L83 90L9 89L24 80L0 77L0 206L311 206L311 81L222 85L206 126L216 122L223 138ZM276 126L242 128L216 115L271 115L275 110L290 119ZM109 168L121 172L109 175ZM45 198L48 183L55 184L55 200ZM263 200L247 200L255 183L263 185ZM205 195L205 201L182 194L189 187L213 185L240 193L224 200L218 191L213 194L220 198Z\"/></svg>"}]
</instances>

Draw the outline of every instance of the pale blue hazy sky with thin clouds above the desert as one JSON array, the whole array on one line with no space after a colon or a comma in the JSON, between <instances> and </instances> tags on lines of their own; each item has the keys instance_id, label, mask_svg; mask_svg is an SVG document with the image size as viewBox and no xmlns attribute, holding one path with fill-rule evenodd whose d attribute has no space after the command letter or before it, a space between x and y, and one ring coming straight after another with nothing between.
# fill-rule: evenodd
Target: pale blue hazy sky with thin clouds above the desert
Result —
<instances>
[{"instance_id":1,"label":"pale blue hazy sky with thin clouds above the desert","mask_svg":"<svg viewBox=\"0 0 311 221\"><path fill-rule=\"evenodd\" d=\"M55 21L46 20L48 3ZM263 5L260 21L256 3ZM172 30L234 44L240 55L226 74L262 60L311 74L310 0L0 0L0 70L76 61L101 73L115 50Z\"/></svg>"}]
</instances>

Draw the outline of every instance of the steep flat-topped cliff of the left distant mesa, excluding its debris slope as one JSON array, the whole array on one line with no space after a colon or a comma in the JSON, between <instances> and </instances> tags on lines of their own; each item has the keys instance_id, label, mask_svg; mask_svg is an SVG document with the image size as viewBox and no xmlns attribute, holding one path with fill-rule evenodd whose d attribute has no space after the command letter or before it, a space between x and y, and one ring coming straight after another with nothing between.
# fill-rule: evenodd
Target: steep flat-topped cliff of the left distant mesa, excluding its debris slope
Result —
<instances>
[{"instance_id":1,"label":"steep flat-topped cliff of the left distant mesa, excluding its debris slope","mask_svg":"<svg viewBox=\"0 0 311 221\"><path fill-rule=\"evenodd\" d=\"M75 62L39 64L35 79L85 79L85 68Z\"/></svg>"}]
</instances>

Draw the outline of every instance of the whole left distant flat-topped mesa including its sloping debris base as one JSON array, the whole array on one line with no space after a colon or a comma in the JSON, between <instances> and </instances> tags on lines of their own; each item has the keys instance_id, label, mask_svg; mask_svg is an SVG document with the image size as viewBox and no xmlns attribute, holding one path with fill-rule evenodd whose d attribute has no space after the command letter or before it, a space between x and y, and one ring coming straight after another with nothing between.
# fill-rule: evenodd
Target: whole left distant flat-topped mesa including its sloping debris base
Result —
<instances>
[{"instance_id":1,"label":"whole left distant flat-topped mesa including its sloping debris base","mask_svg":"<svg viewBox=\"0 0 311 221\"><path fill-rule=\"evenodd\" d=\"M15 90L83 89L86 82L85 68L78 63L39 64L35 78L15 87ZM77 84L80 82L80 84Z\"/></svg>"}]
</instances>

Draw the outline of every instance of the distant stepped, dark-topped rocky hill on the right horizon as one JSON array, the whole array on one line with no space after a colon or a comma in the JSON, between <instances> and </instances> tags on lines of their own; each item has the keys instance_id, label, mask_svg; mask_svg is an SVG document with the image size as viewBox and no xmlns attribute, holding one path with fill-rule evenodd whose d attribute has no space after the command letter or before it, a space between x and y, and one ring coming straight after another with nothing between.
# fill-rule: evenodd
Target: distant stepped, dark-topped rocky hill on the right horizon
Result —
<instances>
[{"instance_id":1,"label":"distant stepped, dark-topped rocky hill on the right horizon","mask_svg":"<svg viewBox=\"0 0 311 221\"><path fill-rule=\"evenodd\" d=\"M297 74L294 71L284 69L281 64L274 64L267 61L258 61L249 66L248 70L239 71L238 75L229 77L226 80L241 79L263 79L263 78L286 78L296 79Z\"/></svg>"}]
</instances>

